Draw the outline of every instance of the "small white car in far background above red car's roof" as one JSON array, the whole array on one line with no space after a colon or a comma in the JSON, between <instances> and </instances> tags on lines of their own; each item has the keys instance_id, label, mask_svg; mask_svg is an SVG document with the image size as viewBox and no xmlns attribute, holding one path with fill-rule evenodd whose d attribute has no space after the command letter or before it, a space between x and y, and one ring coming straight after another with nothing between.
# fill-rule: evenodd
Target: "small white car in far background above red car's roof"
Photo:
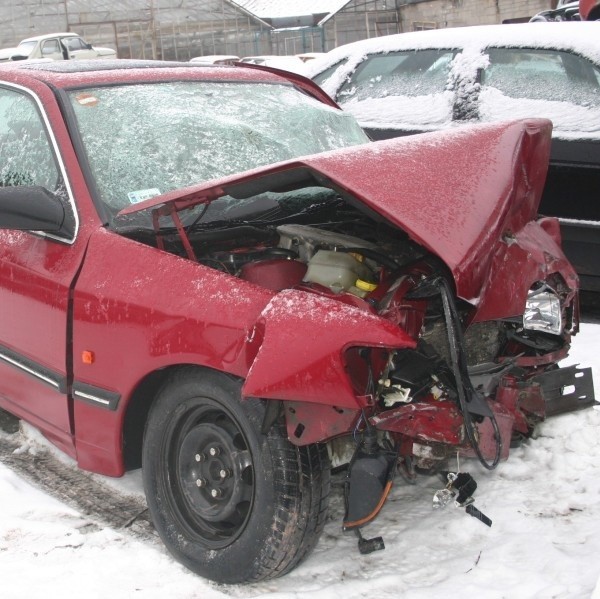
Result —
<instances>
[{"instance_id":1,"label":"small white car in far background above red car's roof","mask_svg":"<svg viewBox=\"0 0 600 599\"><path fill-rule=\"evenodd\" d=\"M76 33L48 33L28 37L16 48L0 50L0 62L11 60L92 60L116 57L116 50L92 46Z\"/></svg>"}]
</instances>

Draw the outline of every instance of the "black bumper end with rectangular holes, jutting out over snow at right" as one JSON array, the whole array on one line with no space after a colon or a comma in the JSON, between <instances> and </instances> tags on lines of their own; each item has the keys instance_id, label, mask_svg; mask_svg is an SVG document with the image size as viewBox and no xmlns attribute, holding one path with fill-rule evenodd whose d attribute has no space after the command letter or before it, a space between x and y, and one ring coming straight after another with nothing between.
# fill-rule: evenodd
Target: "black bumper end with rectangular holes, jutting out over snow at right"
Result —
<instances>
[{"instance_id":1,"label":"black bumper end with rectangular holes, jutting out over snow at right","mask_svg":"<svg viewBox=\"0 0 600 599\"><path fill-rule=\"evenodd\" d=\"M589 408L594 398L591 368L577 365L544 372L532 379L540 385L546 404L546 417Z\"/></svg>"}]
</instances>

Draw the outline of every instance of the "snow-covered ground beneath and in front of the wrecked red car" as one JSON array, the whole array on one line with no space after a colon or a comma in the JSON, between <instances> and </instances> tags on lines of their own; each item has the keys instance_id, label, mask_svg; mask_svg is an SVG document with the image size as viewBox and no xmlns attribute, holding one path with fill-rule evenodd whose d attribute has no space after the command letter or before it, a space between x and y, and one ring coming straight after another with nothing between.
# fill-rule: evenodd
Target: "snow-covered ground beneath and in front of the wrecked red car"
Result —
<instances>
[{"instance_id":1,"label":"snow-covered ground beneath and in front of the wrecked red car","mask_svg":"<svg viewBox=\"0 0 600 599\"><path fill-rule=\"evenodd\" d=\"M570 362L594 367L600 389L600 324L584 324ZM341 494L315 552L288 576L222 587L187 572L159 543L140 542L36 490L0 464L0 596L94 599L373 597L407 599L600 599L600 410L544 423L536 439L486 473L462 464L478 482L476 505L488 528L452 506L433 510L434 478L399 481L367 536L385 551L361 556L340 530ZM17 433L39 451L35 432ZM139 473L119 481L140 491Z\"/></svg>"}]
</instances>

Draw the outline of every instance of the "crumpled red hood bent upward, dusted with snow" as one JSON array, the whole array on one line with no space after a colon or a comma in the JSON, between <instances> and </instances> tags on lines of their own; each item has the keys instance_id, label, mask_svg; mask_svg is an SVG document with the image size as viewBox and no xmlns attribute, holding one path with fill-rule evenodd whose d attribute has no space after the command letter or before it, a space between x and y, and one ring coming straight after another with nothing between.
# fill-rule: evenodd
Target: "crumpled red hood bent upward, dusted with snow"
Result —
<instances>
[{"instance_id":1,"label":"crumpled red hood bent upward, dusted with snow","mask_svg":"<svg viewBox=\"0 0 600 599\"><path fill-rule=\"evenodd\" d=\"M401 227L446 263L458 295L473 300L497 245L537 213L551 133L550 121L527 119L379 141L177 190L120 214L247 197L312 177Z\"/></svg>"}]
</instances>

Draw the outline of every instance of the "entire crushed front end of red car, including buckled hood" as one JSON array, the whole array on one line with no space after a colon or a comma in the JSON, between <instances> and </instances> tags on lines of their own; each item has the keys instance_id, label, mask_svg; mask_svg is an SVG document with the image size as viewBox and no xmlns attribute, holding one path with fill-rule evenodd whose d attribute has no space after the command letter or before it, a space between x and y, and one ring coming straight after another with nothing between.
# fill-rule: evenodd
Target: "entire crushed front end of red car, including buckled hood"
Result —
<instances>
[{"instance_id":1,"label":"entire crushed front end of red car, including buckled hood","mask_svg":"<svg viewBox=\"0 0 600 599\"><path fill-rule=\"evenodd\" d=\"M578 281L558 222L537 216L550 133L527 120L394 139L136 208L156 231L138 241L237 277L240 297L272 293L228 360L268 406L262 432L285 419L291 443L348 465L345 528L377 515L398 474L457 455L493 469L538 422L595 403L591 370L558 366ZM485 521L474 481L447 476L440 502Z\"/></svg>"}]
</instances>

